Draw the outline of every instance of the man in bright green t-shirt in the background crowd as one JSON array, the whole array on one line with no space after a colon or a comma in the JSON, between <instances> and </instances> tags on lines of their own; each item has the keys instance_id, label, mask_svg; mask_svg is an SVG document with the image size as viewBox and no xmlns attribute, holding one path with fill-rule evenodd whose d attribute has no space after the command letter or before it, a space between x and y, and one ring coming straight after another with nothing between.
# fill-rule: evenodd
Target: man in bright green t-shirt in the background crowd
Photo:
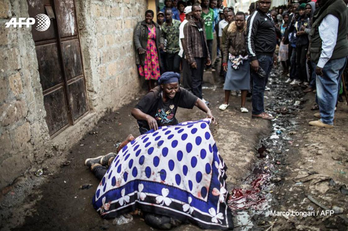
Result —
<instances>
[{"instance_id":1,"label":"man in bright green t-shirt in the background crowd","mask_svg":"<svg viewBox=\"0 0 348 231\"><path fill-rule=\"evenodd\" d=\"M209 0L202 0L202 19L204 20L205 33L210 57L212 57L213 47L213 26L214 26L214 10L209 8ZM211 69L211 65L207 66Z\"/></svg>"}]
</instances>

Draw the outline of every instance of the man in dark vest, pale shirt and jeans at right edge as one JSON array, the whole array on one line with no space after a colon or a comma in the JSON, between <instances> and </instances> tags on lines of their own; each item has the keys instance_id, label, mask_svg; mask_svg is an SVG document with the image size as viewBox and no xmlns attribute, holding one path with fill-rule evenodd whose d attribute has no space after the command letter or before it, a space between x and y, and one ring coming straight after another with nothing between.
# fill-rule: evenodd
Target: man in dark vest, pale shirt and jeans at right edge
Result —
<instances>
[{"instance_id":1,"label":"man in dark vest, pale shirt and jeans at right edge","mask_svg":"<svg viewBox=\"0 0 348 231\"><path fill-rule=\"evenodd\" d=\"M348 9L342 0L318 0L310 32L310 60L316 63L319 120L309 125L333 128L340 78L348 58Z\"/></svg>"}]
</instances>

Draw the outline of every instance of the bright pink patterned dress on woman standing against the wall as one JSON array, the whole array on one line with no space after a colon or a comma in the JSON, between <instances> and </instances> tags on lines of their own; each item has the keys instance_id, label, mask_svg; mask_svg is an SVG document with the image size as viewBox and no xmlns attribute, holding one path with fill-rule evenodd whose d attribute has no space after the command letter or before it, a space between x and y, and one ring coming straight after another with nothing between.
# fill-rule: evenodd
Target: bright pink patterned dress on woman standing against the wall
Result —
<instances>
[{"instance_id":1,"label":"bright pink patterned dress on woman standing against the wall","mask_svg":"<svg viewBox=\"0 0 348 231\"><path fill-rule=\"evenodd\" d=\"M156 47L156 27L149 28L148 44L145 51L144 66L138 65L139 75L146 80L160 77L158 53Z\"/></svg>"}]
</instances>

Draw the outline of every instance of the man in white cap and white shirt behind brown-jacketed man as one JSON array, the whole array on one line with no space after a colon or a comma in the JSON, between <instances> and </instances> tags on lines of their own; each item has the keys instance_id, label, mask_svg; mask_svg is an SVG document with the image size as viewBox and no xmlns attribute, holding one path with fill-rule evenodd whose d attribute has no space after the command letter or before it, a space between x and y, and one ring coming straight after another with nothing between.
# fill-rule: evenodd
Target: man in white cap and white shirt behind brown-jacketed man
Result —
<instances>
[{"instance_id":1,"label":"man in white cap and white shirt behind brown-jacketed man","mask_svg":"<svg viewBox=\"0 0 348 231\"><path fill-rule=\"evenodd\" d=\"M192 90L191 87L191 71L190 71L190 65L185 59L184 55L184 49L182 44L185 43L184 41L184 26L186 23L190 20L191 15L192 15L192 6L187 6L184 9L184 14L186 15L185 19L182 21L179 27L179 46L180 46L180 51L179 51L179 56L181 57L182 60L182 86L187 89L188 91Z\"/></svg>"}]
</instances>

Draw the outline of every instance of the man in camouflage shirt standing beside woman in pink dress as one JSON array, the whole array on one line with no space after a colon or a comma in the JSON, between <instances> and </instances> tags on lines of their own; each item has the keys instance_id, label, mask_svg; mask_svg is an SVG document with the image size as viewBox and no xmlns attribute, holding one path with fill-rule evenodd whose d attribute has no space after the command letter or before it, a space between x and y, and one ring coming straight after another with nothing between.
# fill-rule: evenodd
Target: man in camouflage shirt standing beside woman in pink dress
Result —
<instances>
[{"instance_id":1,"label":"man in camouflage shirt standing beside woman in pink dress","mask_svg":"<svg viewBox=\"0 0 348 231\"><path fill-rule=\"evenodd\" d=\"M174 71L180 73L180 61L179 56L179 27L181 22L173 19L172 10L167 8L164 11L166 22L162 25L162 34L167 40L166 46L166 71Z\"/></svg>"}]
</instances>

